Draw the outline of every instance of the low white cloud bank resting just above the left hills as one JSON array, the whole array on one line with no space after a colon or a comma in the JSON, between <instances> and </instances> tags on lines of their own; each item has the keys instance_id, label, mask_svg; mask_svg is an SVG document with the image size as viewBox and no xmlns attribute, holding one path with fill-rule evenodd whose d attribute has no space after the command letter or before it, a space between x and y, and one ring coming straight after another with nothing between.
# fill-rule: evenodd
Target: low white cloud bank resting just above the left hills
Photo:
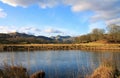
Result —
<instances>
[{"instance_id":1,"label":"low white cloud bank resting just above the left hills","mask_svg":"<svg viewBox=\"0 0 120 78\"><path fill-rule=\"evenodd\" d=\"M68 35L63 30L58 30L54 28L45 28L40 29L34 26L24 26L24 27L16 27L16 26L0 26L0 33L12 33L12 32L19 32L19 33L26 33L30 35L43 35L43 36L55 36L55 35Z\"/></svg>"}]
</instances>

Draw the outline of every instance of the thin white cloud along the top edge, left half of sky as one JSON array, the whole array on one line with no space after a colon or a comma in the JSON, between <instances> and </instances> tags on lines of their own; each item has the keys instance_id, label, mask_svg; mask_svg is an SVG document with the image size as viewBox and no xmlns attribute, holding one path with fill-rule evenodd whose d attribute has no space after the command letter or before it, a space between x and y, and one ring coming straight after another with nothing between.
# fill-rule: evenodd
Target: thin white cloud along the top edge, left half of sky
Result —
<instances>
[{"instance_id":1,"label":"thin white cloud along the top edge, left half of sky","mask_svg":"<svg viewBox=\"0 0 120 78\"><path fill-rule=\"evenodd\" d=\"M38 4L41 8L53 7L57 5L59 1L57 0L1 0L3 3L17 7L27 7L29 5Z\"/></svg>"}]
</instances>

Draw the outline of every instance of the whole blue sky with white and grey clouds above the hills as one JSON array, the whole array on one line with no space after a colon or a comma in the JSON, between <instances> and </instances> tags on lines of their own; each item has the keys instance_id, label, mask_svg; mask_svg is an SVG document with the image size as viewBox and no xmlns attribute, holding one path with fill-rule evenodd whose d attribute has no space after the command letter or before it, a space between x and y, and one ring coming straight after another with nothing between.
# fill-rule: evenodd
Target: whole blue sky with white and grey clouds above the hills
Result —
<instances>
[{"instance_id":1,"label":"whole blue sky with white and grey clouds above the hills","mask_svg":"<svg viewBox=\"0 0 120 78\"><path fill-rule=\"evenodd\" d=\"M86 34L120 24L120 0L0 0L0 33Z\"/></svg>"}]
</instances>

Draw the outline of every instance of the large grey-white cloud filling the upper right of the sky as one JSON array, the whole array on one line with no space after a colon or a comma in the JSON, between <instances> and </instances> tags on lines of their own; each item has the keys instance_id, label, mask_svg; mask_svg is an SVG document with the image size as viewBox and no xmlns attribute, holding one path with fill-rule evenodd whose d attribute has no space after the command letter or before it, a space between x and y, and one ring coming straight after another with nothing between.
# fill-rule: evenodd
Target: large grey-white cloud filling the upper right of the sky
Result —
<instances>
[{"instance_id":1,"label":"large grey-white cloud filling the upper right of the sky","mask_svg":"<svg viewBox=\"0 0 120 78\"><path fill-rule=\"evenodd\" d=\"M72 4L72 11L82 12L86 10L93 11L94 16L90 19L92 22L98 20L113 21L109 23L118 23L120 18L120 0L78 0L78 3ZM118 21L118 22L116 22Z\"/></svg>"}]
</instances>

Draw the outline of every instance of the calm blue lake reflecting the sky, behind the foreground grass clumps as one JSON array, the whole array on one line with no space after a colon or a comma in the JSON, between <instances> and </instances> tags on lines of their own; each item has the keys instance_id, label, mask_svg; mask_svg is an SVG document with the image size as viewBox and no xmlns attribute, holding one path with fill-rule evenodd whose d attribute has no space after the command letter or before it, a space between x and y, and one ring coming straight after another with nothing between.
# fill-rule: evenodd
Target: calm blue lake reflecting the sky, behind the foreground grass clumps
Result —
<instances>
[{"instance_id":1,"label":"calm blue lake reflecting the sky, behind the foreground grass clumps","mask_svg":"<svg viewBox=\"0 0 120 78\"><path fill-rule=\"evenodd\" d=\"M120 52L80 50L0 52L0 64L26 67L30 74L43 70L45 78L84 78L98 67L103 59L112 59L120 69Z\"/></svg>"}]
</instances>

